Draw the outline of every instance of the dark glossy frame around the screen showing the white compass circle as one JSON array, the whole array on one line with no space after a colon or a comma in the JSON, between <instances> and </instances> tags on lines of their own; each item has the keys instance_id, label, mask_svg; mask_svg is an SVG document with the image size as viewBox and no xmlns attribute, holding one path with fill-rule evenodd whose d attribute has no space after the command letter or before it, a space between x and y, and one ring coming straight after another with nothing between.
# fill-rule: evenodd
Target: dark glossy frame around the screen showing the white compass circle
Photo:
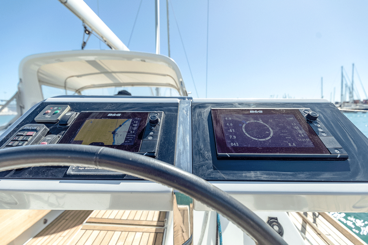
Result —
<instances>
[{"instance_id":1,"label":"dark glossy frame around the screen showing the white compass circle","mask_svg":"<svg viewBox=\"0 0 368 245\"><path fill-rule=\"evenodd\" d=\"M262 115L284 114L294 115L302 129L315 147L228 147L222 124L222 115L250 115L251 111L262 111ZM260 115L260 114L258 114ZM241 157L241 156L264 156L264 157L300 157L301 155L330 155L330 152L319 139L314 130L308 125L299 109L291 108L211 108L213 131L217 157Z\"/></svg>"}]
</instances>

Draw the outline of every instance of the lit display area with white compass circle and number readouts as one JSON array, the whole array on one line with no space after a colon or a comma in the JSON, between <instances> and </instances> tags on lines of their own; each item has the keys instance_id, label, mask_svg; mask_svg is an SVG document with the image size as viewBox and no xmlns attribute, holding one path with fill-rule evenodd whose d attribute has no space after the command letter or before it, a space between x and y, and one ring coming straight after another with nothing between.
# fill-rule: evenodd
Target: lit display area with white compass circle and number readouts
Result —
<instances>
[{"instance_id":1,"label":"lit display area with white compass circle and number readouts","mask_svg":"<svg viewBox=\"0 0 368 245\"><path fill-rule=\"evenodd\" d=\"M294 115L221 115L226 145L233 147L314 147Z\"/></svg>"}]
</instances>

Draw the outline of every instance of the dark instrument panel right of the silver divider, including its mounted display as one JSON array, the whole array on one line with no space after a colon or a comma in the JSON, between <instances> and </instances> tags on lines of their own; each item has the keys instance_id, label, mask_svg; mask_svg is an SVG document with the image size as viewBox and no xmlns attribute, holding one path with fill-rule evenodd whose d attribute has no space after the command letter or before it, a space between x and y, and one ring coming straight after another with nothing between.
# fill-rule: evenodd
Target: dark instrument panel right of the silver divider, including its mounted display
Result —
<instances>
[{"instance_id":1,"label":"dark instrument panel right of the silver divider, including its mounted display","mask_svg":"<svg viewBox=\"0 0 368 245\"><path fill-rule=\"evenodd\" d=\"M227 113L231 108L234 111ZM299 137L291 128L285 127L285 135L279 134L277 130L283 131L283 128L274 130L272 123L277 122L272 115L257 116L251 118L251 110L266 111L268 109L281 108L290 109L286 115L293 115L290 124L298 122L302 129L307 133L307 137L321 145L324 154L300 154L293 158L292 154L275 154L277 145L282 144L292 146L284 147L295 148L292 142L285 142L286 137L298 139L307 139ZM212 113L218 109L220 112ZM243 114L244 109L249 109L248 114ZM318 112L316 120L307 121L305 116L310 112ZM240 113L241 112L241 113ZM253 112L252 114L255 114ZM257 112L259 113L259 112ZM291 114L290 114L291 113ZM214 115L215 114L215 115ZM230 118L233 115L240 115L236 120ZM297 115L297 116L296 116ZM215 116L215 119L213 118ZM237 123L236 127L228 127L226 121ZM368 156L363 152L368 152L368 139L336 108L329 102L210 102L194 101L192 103L192 171L195 175L211 181L320 181L320 182L366 182L368 181ZM282 118L282 117L281 117ZM302 119L300 119L302 118ZM239 120L238 120L239 119ZM241 120L240 120L241 119ZM270 122L274 120L275 122ZM264 123L259 123L259 122ZM280 119L282 120L282 119ZM303 121L304 120L304 121ZM244 121L244 122L243 122ZM249 122L259 121L259 122ZM258 132L250 131L247 128L251 123L258 123ZM231 126L229 123L229 126ZM225 125L224 125L225 124ZM245 126L244 126L245 124ZM272 130L270 136L269 128ZM255 125L255 124L254 124ZM254 126L253 125L253 126ZM293 125L299 127L299 125ZM244 131L250 136L247 136ZM290 125L291 126L291 125ZM233 131L234 129L234 131ZM225 133L226 130L229 130ZM197 133L198 132L198 133ZM267 133L268 132L268 133ZM235 133L235 134L234 134ZM217 134L217 136L216 136ZM291 136L290 136L291 135ZM294 136L293 136L294 135ZM230 136L243 137L241 141L227 141ZM253 138L251 138L253 137ZM267 140L277 138L274 142L269 141L270 147L259 147ZM282 138L284 137L284 138ZM220 141L220 146L217 144ZM302 140L301 140L302 141ZM305 140L304 140L305 141ZM233 145L231 146L231 143ZM238 143L238 146L234 143ZM313 141L312 141L313 143ZM229 145L230 144L230 145ZM248 144L248 145L246 145ZM273 144L273 145L272 145ZM323 145L324 146L323 146ZM243 148L240 147L243 145ZM296 144L297 145L297 144ZM308 146L308 144L304 145ZM258 149L262 148L262 149ZM273 149L272 149L273 148ZM304 151L307 147L300 147ZM321 150L319 149L319 150ZM328 152L326 152L326 149ZM245 151L246 150L246 151ZM258 153L250 152L251 150ZM270 150L272 153L267 154ZM294 151L292 149L290 151ZM247 155L240 155L240 154ZM247 152L248 151L248 152ZM240 152L240 153L239 153ZM302 152L303 153L303 152ZM305 153L305 152L304 152ZM228 154L229 156L227 156ZM262 155L263 154L263 155ZM318 156L319 155L319 156ZM324 156L323 156L324 155ZM307 156L307 157L306 157ZM322 156L322 157L321 157ZM327 156L327 157L326 157ZM367 166L365 166L367 165Z\"/></svg>"}]
</instances>

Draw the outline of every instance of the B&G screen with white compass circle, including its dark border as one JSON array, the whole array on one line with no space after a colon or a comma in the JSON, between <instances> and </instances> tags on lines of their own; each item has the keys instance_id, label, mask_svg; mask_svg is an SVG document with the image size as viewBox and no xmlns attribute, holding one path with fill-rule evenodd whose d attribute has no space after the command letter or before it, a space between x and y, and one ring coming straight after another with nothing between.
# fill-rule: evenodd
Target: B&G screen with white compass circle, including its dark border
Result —
<instances>
[{"instance_id":1,"label":"B&G screen with white compass circle, including its dark border","mask_svg":"<svg viewBox=\"0 0 368 245\"><path fill-rule=\"evenodd\" d=\"M329 154L298 109L211 109L217 154Z\"/></svg>"}]
</instances>

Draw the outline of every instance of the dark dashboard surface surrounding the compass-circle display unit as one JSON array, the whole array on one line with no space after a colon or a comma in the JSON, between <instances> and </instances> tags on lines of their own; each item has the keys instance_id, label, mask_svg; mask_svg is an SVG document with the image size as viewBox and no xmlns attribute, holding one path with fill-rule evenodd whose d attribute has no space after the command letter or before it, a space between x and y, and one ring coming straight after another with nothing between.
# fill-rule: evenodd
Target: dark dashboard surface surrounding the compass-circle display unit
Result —
<instances>
[{"instance_id":1,"label":"dark dashboard surface surrounding the compass-circle display unit","mask_svg":"<svg viewBox=\"0 0 368 245\"><path fill-rule=\"evenodd\" d=\"M348 154L346 160L222 159L216 156L211 108L310 108ZM367 182L368 139L328 102L193 102L193 173L205 180Z\"/></svg>"}]
</instances>

